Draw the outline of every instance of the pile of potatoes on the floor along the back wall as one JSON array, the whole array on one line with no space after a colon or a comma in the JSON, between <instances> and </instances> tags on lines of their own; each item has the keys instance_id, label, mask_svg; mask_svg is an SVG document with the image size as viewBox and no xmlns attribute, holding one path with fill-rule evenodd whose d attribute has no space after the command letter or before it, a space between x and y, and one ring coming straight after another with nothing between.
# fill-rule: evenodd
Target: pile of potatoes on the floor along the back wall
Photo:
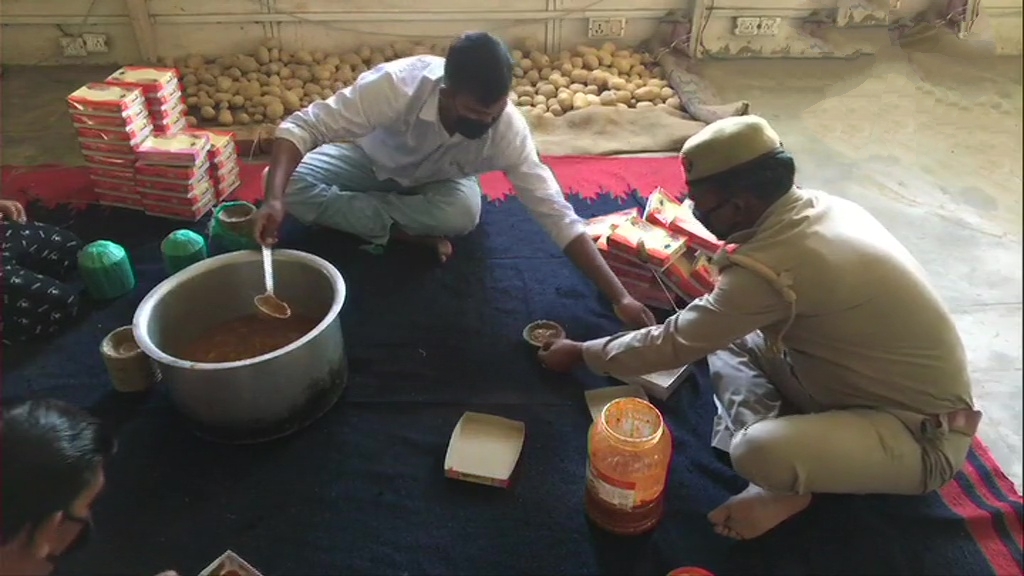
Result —
<instances>
[{"instance_id":1,"label":"pile of potatoes on the floor along the back wall","mask_svg":"<svg viewBox=\"0 0 1024 576\"><path fill-rule=\"evenodd\" d=\"M167 63L181 72L189 108L189 125L276 124L289 114L329 97L352 84L359 74L394 58L414 54L443 55L446 44L399 42L383 48L364 46L345 54L289 51L270 40L253 54L200 55ZM562 116L590 106L668 107L679 98L660 79L646 54L579 46L552 58L536 42L513 50L515 83L510 96L524 114ZM199 120L197 120L197 117Z\"/></svg>"}]
</instances>

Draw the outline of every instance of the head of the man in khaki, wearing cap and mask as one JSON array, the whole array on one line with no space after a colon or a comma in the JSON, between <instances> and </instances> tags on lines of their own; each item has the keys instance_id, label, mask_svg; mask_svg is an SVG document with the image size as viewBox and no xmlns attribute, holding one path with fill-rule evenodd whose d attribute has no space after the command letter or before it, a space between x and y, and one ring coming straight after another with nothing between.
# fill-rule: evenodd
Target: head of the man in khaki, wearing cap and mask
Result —
<instances>
[{"instance_id":1,"label":"head of the man in khaki, wearing cap and mask","mask_svg":"<svg viewBox=\"0 0 1024 576\"><path fill-rule=\"evenodd\" d=\"M775 130L758 116L709 124L679 153L694 215L725 240L754 228L793 190L797 166Z\"/></svg>"}]
</instances>

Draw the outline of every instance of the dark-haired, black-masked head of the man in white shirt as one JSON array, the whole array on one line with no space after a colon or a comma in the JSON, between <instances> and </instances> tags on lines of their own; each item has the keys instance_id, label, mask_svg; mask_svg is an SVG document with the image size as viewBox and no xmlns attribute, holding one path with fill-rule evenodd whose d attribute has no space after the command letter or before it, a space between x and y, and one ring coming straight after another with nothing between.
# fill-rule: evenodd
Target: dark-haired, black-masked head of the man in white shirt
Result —
<instances>
[{"instance_id":1,"label":"dark-haired, black-masked head of the man in white shirt","mask_svg":"<svg viewBox=\"0 0 1024 576\"><path fill-rule=\"evenodd\" d=\"M440 91L445 127L476 139L501 118L512 89L512 54L504 42L486 32L456 39L444 59Z\"/></svg>"}]
</instances>

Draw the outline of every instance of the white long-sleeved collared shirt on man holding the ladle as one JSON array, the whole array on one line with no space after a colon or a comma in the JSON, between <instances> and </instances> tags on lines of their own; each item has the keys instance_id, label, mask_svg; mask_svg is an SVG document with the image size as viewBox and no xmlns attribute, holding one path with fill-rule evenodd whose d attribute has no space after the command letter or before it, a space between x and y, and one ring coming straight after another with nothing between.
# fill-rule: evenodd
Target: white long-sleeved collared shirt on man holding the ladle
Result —
<instances>
[{"instance_id":1,"label":"white long-sleeved collared shirt on man holding the ladle","mask_svg":"<svg viewBox=\"0 0 1024 576\"><path fill-rule=\"evenodd\" d=\"M354 140L374 161L377 177L406 187L501 170L559 248L584 234L583 219L541 162L529 126L514 106L481 138L447 133L437 110L443 77L444 58L438 56L382 64L330 98L288 117L275 136L303 154L328 142Z\"/></svg>"}]
</instances>

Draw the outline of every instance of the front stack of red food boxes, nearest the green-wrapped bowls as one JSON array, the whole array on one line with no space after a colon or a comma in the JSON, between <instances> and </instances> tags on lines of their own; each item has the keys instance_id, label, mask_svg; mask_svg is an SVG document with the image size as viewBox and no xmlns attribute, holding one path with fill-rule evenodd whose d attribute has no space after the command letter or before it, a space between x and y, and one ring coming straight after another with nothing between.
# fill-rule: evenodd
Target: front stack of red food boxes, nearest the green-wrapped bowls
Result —
<instances>
[{"instance_id":1,"label":"front stack of red food boxes, nearest the green-wrapped bowls","mask_svg":"<svg viewBox=\"0 0 1024 576\"><path fill-rule=\"evenodd\" d=\"M147 214L198 220L216 202L210 138L179 132L150 136L136 150L135 184Z\"/></svg>"}]
</instances>

